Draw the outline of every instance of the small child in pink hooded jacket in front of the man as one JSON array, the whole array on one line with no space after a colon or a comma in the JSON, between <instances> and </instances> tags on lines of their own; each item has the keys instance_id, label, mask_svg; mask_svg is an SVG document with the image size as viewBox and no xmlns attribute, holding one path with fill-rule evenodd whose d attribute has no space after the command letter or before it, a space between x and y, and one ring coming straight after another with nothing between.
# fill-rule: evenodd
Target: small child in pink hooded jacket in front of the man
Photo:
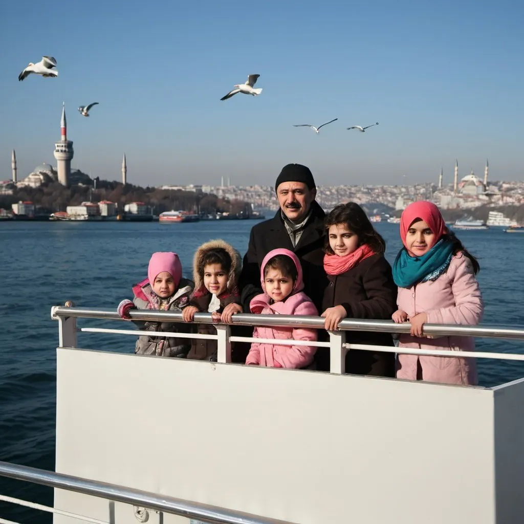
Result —
<instances>
[{"instance_id":1,"label":"small child in pink hooded jacket in front of the man","mask_svg":"<svg viewBox=\"0 0 524 524\"><path fill-rule=\"evenodd\" d=\"M260 271L263 294L249 304L252 313L264 315L318 316L311 299L302 292L302 267L297 256L289 249L273 249L264 258ZM316 341L316 330L304 328L271 328L258 326L255 338ZM304 368L313 362L315 346L285 346L254 342L246 364L267 367Z\"/></svg>"}]
</instances>

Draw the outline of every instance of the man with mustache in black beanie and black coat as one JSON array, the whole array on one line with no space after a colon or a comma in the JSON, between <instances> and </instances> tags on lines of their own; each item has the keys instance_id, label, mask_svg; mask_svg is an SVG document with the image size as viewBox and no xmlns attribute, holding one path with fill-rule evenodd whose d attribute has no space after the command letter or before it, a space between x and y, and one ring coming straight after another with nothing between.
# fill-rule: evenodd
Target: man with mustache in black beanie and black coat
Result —
<instances>
[{"instance_id":1,"label":"man with mustache in black beanie and black coat","mask_svg":"<svg viewBox=\"0 0 524 524\"><path fill-rule=\"evenodd\" d=\"M319 312L328 277L324 271L324 216L315 201L316 186L310 169L290 163L280 171L275 183L280 209L276 215L252 227L244 256L239 288L245 313L249 302L262 293L260 265L271 249L286 248L300 260L304 292Z\"/></svg>"}]
</instances>

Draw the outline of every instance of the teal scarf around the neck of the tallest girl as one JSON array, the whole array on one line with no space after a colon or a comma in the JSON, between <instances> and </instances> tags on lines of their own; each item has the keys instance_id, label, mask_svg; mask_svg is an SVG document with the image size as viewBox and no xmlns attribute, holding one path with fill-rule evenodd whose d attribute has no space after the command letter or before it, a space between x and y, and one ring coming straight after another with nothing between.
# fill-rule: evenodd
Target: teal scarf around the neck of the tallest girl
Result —
<instances>
[{"instance_id":1,"label":"teal scarf around the neck of the tallest girl","mask_svg":"<svg viewBox=\"0 0 524 524\"><path fill-rule=\"evenodd\" d=\"M441 238L421 257L412 257L406 248L402 248L393 264L393 280L400 288L436 280L446 271L452 257L453 243L447 238Z\"/></svg>"}]
</instances>

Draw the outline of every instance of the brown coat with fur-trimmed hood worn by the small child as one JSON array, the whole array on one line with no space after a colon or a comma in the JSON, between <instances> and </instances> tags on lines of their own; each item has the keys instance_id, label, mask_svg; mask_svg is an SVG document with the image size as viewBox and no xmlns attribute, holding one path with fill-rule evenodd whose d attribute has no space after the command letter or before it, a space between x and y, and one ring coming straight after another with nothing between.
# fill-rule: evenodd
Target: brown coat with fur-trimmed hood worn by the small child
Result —
<instances>
[{"instance_id":1,"label":"brown coat with fur-trimmed hood worn by the small child","mask_svg":"<svg viewBox=\"0 0 524 524\"><path fill-rule=\"evenodd\" d=\"M203 275L203 260L205 254L211 249L223 248L231 257L231 270L227 277L226 291L219 297L220 308L217 312L222 313L227 304L240 303L238 296L238 277L242 269L242 259L238 251L223 240L211 240L202 244L193 257L193 278L195 282L195 291L193 292L190 305L194 305L201 313L207 313L211 302L212 294L205 288ZM213 324L198 324L198 333L216 335L216 329ZM232 354L234 353L232 347ZM217 343L216 340L210 339L193 339L191 341L191 350L187 358L195 360L208 360L216 362Z\"/></svg>"}]
</instances>

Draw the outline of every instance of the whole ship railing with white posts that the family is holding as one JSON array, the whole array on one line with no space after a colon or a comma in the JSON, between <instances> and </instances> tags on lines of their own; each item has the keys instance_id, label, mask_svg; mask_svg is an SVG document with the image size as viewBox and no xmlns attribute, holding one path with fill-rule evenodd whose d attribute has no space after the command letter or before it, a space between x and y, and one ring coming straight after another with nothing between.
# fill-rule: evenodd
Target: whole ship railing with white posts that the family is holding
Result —
<instances>
[{"instance_id":1,"label":"whole ship railing with white posts that the family is holding","mask_svg":"<svg viewBox=\"0 0 524 524\"><path fill-rule=\"evenodd\" d=\"M108 329L108 328L77 328L77 319L101 319L101 320L117 320L121 322L123 319L116 311L77 308L71 302L65 306L54 306L51 309L51 318L59 321L59 346L60 347L78 347L77 333L112 333L122 335L139 336L144 335L144 331L137 329ZM171 313L166 311L149 311L149 310L131 310L129 316L133 320L143 321L157 321L157 322L180 322L183 323L181 313ZM188 339L214 339L217 341L218 354L217 362L231 363L231 343L232 342L260 342L260 343L275 343L280 345L295 345L295 346L315 346L327 347L330 350L330 372L336 374L345 373L345 354L351 350L364 351L381 351L389 353L397 353L396 346L379 346L372 344L352 344L346 343L346 332L348 331L372 331L382 333L409 333L411 325L408 322L396 324L392 320L363 320L363 319L344 319L339 323L337 331L328 331L329 341L296 341L296 340L276 340L276 339L260 339L246 336L232 336L231 324L217 324L213 323L210 313L196 313L194 315L194 324L206 323L213 324L216 328L216 335L200 334L200 333L174 333L162 332L162 336L178 337ZM129 322L126 322L129 324ZM317 330L324 330L324 319L320 316L308 315L261 315L261 314L246 314L238 313L233 315L232 325L264 325L264 326L280 326L293 328L310 328ZM148 332L152 335L151 332ZM490 339L511 339L524 340L524 327L509 328L506 326L493 325L456 325L456 324L424 324L424 334L432 338L442 336L473 336ZM402 353L413 355L435 355L435 356L451 356L464 357L464 353L451 350L423 350L402 348ZM494 358L499 360L524 361L524 354L520 353L499 353L499 352L485 352L485 351L468 351L468 357L476 358Z\"/></svg>"}]
</instances>

